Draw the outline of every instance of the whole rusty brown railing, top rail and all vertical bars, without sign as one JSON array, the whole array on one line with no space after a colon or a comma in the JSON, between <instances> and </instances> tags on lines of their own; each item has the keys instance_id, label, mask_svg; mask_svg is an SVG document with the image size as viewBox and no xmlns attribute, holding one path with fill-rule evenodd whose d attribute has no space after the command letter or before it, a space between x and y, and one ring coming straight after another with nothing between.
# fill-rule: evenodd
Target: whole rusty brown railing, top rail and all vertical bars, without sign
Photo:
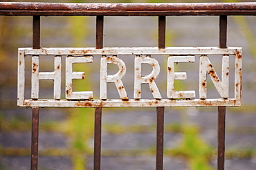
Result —
<instances>
[{"instance_id":1,"label":"whole rusty brown railing, top rail and all vertical bars, without sign","mask_svg":"<svg viewBox=\"0 0 256 170\"><path fill-rule=\"evenodd\" d=\"M33 48L40 48L41 16L97 16L95 48L103 48L104 16L158 16L158 48L165 48L166 16L219 16L219 48L227 48L227 16L256 15L256 3L0 3L0 15L33 16ZM31 169L37 169L39 107L33 107ZM156 170L163 169L164 107L157 107ZM94 168L100 169L102 108L95 108ZM218 107L217 169L224 169L226 106Z\"/></svg>"}]
</instances>

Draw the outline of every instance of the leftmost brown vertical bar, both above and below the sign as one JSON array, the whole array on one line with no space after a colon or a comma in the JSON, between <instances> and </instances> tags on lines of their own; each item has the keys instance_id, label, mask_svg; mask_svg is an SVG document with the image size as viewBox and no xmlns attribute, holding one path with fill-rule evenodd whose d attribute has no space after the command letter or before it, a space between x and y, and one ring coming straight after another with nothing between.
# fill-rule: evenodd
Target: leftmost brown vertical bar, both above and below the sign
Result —
<instances>
[{"instance_id":1,"label":"leftmost brown vertical bar, both above and below the sign","mask_svg":"<svg viewBox=\"0 0 256 170\"><path fill-rule=\"evenodd\" d=\"M33 16L33 48L40 48L40 16ZM31 170L38 167L39 107L32 108Z\"/></svg>"}]
</instances>

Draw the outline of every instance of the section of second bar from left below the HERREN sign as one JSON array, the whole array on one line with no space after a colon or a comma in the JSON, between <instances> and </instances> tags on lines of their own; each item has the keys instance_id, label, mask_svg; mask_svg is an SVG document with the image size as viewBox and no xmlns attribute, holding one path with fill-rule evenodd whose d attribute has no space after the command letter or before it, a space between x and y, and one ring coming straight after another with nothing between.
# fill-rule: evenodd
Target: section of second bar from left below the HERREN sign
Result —
<instances>
[{"instance_id":1,"label":"section of second bar from left below the HERREN sign","mask_svg":"<svg viewBox=\"0 0 256 170\"><path fill-rule=\"evenodd\" d=\"M93 169L100 170L102 108L95 108Z\"/></svg>"}]
</instances>

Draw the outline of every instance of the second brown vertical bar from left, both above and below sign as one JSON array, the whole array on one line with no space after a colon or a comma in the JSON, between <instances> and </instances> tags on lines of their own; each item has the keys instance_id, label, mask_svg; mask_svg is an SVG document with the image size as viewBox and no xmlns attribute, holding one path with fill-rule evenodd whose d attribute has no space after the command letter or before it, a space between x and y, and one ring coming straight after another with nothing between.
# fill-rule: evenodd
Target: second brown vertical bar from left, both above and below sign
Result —
<instances>
[{"instance_id":1,"label":"second brown vertical bar from left, both above and below sign","mask_svg":"<svg viewBox=\"0 0 256 170\"><path fill-rule=\"evenodd\" d=\"M96 49L103 48L104 16L96 17ZM95 108L93 169L100 170L102 108Z\"/></svg>"}]
</instances>

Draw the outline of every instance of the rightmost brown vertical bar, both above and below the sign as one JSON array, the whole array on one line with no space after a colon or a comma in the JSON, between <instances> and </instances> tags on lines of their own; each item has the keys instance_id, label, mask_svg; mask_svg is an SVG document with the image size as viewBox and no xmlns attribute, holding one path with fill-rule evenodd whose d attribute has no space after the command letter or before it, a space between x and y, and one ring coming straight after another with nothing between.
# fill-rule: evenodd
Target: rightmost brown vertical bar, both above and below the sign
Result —
<instances>
[{"instance_id":1,"label":"rightmost brown vertical bar, both above and below the sign","mask_svg":"<svg viewBox=\"0 0 256 170\"><path fill-rule=\"evenodd\" d=\"M219 16L219 48L227 48L227 23L226 15ZM218 107L218 158L217 169L225 169L225 127L226 106Z\"/></svg>"}]
</instances>

